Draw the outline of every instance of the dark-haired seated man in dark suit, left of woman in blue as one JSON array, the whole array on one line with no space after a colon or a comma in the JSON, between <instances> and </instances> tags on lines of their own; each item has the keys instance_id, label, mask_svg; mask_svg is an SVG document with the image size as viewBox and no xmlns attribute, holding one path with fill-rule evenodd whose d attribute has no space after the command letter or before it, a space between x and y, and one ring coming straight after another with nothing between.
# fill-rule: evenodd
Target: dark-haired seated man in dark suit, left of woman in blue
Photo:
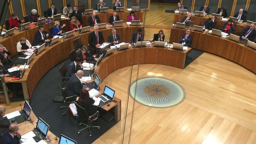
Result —
<instances>
[{"instance_id":1,"label":"dark-haired seated man in dark suit, left of woman in blue","mask_svg":"<svg viewBox=\"0 0 256 144\"><path fill-rule=\"evenodd\" d=\"M40 43L50 41L49 39L47 39L48 36L49 36L49 32L44 30L43 25L39 25L38 31L36 31L34 40L32 42L32 46L37 46Z\"/></svg>"}]
</instances>

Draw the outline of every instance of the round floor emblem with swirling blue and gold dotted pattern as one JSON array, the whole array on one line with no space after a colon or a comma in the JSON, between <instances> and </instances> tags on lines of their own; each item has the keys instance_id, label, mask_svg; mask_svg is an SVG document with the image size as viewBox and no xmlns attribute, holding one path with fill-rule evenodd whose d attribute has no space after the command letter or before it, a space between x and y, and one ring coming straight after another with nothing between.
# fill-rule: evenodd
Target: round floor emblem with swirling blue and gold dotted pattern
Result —
<instances>
[{"instance_id":1,"label":"round floor emblem with swirling blue and gold dotted pattern","mask_svg":"<svg viewBox=\"0 0 256 144\"><path fill-rule=\"evenodd\" d=\"M136 81L132 82L130 95L134 99ZM136 101L143 105L166 108L181 103L185 98L185 90L178 83L159 77L138 79Z\"/></svg>"}]
</instances>

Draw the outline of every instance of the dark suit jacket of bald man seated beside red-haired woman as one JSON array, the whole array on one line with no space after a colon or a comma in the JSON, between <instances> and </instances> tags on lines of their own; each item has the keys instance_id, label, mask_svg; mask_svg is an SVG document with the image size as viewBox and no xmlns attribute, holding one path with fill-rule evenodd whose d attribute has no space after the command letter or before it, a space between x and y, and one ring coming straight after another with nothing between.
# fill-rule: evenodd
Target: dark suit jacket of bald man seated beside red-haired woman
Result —
<instances>
[{"instance_id":1,"label":"dark suit jacket of bald man seated beside red-haired woman","mask_svg":"<svg viewBox=\"0 0 256 144\"><path fill-rule=\"evenodd\" d=\"M65 94L67 97L71 97L73 95L79 96L81 90L83 89L83 84L80 82L80 79L74 74L68 80L68 84L65 89Z\"/></svg>"}]
</instances>

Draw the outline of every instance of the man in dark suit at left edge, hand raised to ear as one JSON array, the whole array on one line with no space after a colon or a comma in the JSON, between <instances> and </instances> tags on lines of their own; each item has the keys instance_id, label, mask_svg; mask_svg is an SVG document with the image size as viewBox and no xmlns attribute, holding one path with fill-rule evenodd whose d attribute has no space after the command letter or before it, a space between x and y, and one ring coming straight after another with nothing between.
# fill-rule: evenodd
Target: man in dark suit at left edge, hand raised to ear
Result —
<instances>
[{"instance_id":1,"label":"man in dark suit at left edge, hand raised to ear","mask_svg":"<svg viewBox=\"0 0 256 144\"><path fill-rule=\"evenodd\" d=\"M0 60L4 65L5 70L13 66L13 61L8 57L8 55L11 55L11 52L0 44Z\"/></svg>"}]
</instances>

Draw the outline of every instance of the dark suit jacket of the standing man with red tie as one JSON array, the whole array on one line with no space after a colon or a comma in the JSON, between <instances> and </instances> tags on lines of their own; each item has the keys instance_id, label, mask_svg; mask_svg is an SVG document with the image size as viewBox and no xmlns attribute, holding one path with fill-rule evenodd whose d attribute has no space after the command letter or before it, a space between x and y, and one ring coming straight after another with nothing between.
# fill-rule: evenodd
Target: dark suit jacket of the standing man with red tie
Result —
<instances>
[{"instance_id":1,"label":"dark suit jacket of the standing man with red tie","mask_svg":"<svg viewBox=\"0 0 256 144\"><path fill-rule=\"evenodd\" d=\"M99 31L99 33L98 33L98 39L99 39L99 44L102 45L104 42L104 37L103 37L103 34L101 31ZM95 45L97 45L97 40L96 40L96 34L94 31L90 32L88 41L89 41L90 51L95 51L96 50Z\"/></svg>"}]
</instances>

